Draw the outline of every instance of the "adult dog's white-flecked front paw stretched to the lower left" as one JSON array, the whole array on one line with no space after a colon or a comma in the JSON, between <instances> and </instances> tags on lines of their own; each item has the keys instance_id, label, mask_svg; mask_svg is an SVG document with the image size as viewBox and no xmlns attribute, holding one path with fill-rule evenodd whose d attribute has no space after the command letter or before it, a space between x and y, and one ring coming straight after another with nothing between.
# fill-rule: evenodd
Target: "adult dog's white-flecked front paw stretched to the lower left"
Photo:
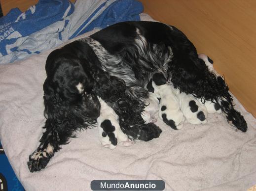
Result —
<instances>
[{"instance_id":1,"label":"adult dog's white-flecked front paw stretched to the lower left","mask_svg":"<svg viewBox=\"0 0 256 191\"><path fill-rule=\"evenodd\" d=\"M35 151L29 156L28 167L30 172L39 171L44 168L50 160L50 156L47 156L46 151Z\"/></svg>"}]
</instances>

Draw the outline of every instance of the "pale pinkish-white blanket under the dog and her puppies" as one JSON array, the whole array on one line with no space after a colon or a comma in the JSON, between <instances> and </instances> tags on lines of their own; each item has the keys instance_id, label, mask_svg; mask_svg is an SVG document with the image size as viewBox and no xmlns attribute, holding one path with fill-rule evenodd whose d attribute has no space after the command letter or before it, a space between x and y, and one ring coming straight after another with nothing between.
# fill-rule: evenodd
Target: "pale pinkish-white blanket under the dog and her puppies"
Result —
<instances>
[{"instance_id":1,"label":"pale pinkish-white blanket under the dog and her puppies","mask_svg":"<svg viewBox=\"0 0 256 191\"><path fill-rule=\"evenodd\" d=\"M0 66L0 139L26 191L89 191L92 180L163 180L166 191L245 191L256 184L256 119L236 99L246 133L234 131L217 114L209 114L205 125L185 122L180 131L158 120L159 138L110 150L99 142L96 128L88 129L45 169L31 173L27 161L45 121L42 85L51 51Z\"/></svg>"}]
</instances>

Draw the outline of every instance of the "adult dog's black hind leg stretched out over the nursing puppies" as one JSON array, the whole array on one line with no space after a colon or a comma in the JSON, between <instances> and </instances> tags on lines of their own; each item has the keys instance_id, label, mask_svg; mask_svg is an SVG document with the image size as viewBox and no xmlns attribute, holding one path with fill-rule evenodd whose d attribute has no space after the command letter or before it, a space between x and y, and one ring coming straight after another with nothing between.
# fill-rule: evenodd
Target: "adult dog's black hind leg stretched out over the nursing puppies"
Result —
<instances>
[{"instance_id":1,"label":"adult dog's black hind leg stretched out over the nursing puppies","mask_svg":"<svg viewBox=\"0 0 256 191\"><path fill-rule=\"evenodd\" d=\"M198 58L194 45L179 29L171 27L167 33L168 43L174 55L169 63L167 75L174 87L202 101L219 103L229 124L246 132L247 123L234 109L232 97L224 80L209 71L204 60Z\"/></svg>"}]
</instances>

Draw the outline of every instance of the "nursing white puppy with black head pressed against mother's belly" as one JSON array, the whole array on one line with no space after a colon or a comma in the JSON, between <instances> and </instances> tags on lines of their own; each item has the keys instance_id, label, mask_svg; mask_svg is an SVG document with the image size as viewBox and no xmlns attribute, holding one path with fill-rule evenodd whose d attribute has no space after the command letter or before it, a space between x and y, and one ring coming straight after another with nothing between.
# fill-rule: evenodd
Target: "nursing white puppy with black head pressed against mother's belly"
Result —
<instances>
[{"instance_id":1,"label":"nursing white puppy with black head pressed against mother's belly","mask_svg":"<svg viewBox=\"0 0 256 191\"><path fill-rule=\"evenodd\" d=\"M164 75L162 73L154 74L147 87L148 89L151 88L151 91L160 100L159 117L172 129L180 130L183 127L185 118L180 110L173 88L170 84L167 84Z\"/></svg>"}]
</instances>

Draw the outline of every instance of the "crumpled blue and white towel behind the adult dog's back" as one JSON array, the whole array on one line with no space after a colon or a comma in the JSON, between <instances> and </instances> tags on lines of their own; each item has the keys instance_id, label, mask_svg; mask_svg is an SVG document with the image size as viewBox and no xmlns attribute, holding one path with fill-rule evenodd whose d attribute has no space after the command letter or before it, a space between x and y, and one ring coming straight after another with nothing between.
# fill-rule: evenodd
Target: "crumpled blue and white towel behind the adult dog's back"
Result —
<instances>
[{"instance_id":1,"label":"crumpled blue and white towel behind the adult dog's back","mask_svg":"<svg viewBox=\"0 0 256 191\"><path fill-rule=\"evenodd\" d=\"M25 13L12 9L0 18L0 63L39 54L95 27L138 21L141 12L137 0L39 0Z\"/></svg>"}]
</instances>

